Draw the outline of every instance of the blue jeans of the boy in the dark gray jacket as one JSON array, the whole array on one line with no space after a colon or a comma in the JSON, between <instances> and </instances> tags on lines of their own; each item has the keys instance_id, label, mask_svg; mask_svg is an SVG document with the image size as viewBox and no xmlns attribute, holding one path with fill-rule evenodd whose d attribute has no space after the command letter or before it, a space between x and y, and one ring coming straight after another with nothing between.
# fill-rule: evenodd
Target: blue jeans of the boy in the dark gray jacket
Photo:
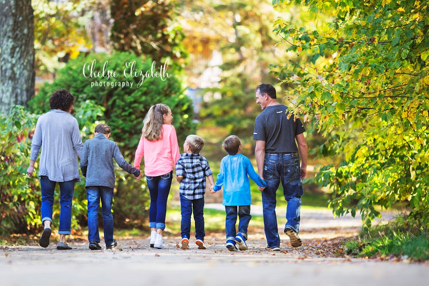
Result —
<instances>
[{"instance_id":1,"label":"blue jeans of the boy in the dark gray jacket","mask_svg":"<svg viewBox=\"0 0 429 286\"><path fill-rule=\"evenodd\" d=\"M87 187L88 199L88 240L100 242L98 233L98 206L101 198L101 214L103 215L104 242L113 243L113 189L108 187Z\"/></svg>"}]
</instances>

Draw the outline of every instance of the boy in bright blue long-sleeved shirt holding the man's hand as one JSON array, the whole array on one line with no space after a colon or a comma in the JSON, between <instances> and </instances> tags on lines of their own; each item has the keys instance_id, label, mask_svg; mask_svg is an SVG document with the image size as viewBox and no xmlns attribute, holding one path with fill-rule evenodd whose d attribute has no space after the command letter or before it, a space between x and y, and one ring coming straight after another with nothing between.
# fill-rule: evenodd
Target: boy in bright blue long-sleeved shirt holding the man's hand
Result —
<instances>
[{"instance_id":1,"label":"boy in bright blue long-sleeved shirt holding the man's hand","mask_svg":"<svg viewBox=\"0 0 429 286\"><path fill-rule=\"evenodd\" d=\"M216 184L211 193L219 191L223 185L223 201L225 206L225 232L226 247L230 251L247 250L247 228L250 219L250 183L249 177L260 187L267 184L254 171L251 161L246 156L240 154L242 144L240 138L235 135L227 137L222 147L229 155L222 158L220 162L220 173L217 175ZM237 215L240 218L238 223L238 234L235 230Z\"/></svg>"}]
</instances>

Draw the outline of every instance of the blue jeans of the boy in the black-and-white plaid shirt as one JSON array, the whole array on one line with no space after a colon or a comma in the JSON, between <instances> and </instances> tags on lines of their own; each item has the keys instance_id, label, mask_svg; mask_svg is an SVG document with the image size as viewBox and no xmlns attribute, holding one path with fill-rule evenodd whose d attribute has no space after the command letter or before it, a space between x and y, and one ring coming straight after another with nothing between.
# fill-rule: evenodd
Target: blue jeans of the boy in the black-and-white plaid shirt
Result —
<instances>
[{"instance_id":1,"label":"blue jeans of the boy in the black-and-white plaid shirt","mask_svg":"<svg viewBox=\"0 0 429 286\"><path fill-rule=\"evenodd\" d=\"M191 235L191 215L194 210L195 238L204 241L204 197L198 199L187 199L180 194L180 210L182 220L180 222L180 234L182 238L188 238Z\"/></svg>"}]
</instances>

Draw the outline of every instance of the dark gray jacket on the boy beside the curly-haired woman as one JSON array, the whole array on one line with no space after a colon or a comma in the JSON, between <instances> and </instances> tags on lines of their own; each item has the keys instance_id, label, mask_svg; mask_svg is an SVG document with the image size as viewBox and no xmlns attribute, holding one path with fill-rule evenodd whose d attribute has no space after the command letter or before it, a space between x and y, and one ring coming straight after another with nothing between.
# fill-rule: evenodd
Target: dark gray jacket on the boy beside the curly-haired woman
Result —
<instances>
[{"instance_id":1,"label":"dark gray jacket on the boy beside the curly-haired woman","mask_svg":"<svg viewBox=\"0 0 429 286\"><path fill-rule=\"evenodd\" d=\"M104 136L97 134L93 139L83 144L80 156L80 169L86 177L86 187L115 188L115 172L112 157L125 171L134 176L140 175L140 170L125 161L117 144Z\"/></svg>"}]
</instances>

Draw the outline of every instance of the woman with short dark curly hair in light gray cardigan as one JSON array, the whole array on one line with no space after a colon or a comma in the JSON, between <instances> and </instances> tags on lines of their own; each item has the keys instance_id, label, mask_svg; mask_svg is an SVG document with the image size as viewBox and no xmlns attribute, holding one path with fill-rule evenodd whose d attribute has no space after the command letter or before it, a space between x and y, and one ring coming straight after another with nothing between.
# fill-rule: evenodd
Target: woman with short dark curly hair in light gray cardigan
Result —
<instances>
[{"instance_id":1,"label":"woman with short dark curly hair in light gray cardigan","mask_svg":"<svg viewBox=\"0 0 429 286\"><path fill-rule=\"evenodd\" d=\"M80 181L78 156L83 147L78 121L70 114L74 110L74 102L75 97L68 90L56 90L49 98L51 110L39 117L31 142L27 175L34 176L34 163L40 151L40 211L44 230L39 244L44 248L50 243L54 190L58 182L60 214L57 249L72 249L66 243L65 236L71 231L73 192L75 182Z\"/></svg>"}]
</instances>

